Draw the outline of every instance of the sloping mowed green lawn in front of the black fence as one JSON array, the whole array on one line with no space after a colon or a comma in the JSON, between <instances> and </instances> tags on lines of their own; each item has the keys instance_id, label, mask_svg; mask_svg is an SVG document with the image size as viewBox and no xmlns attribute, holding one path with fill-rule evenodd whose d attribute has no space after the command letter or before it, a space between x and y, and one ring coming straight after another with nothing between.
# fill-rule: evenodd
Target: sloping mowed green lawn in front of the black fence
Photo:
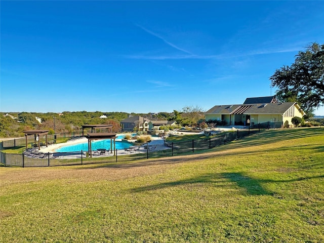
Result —
<instances>
[{"instance_id":1,"label":"sloping mowed green lawn in front of the black fence","mask_svg":"<svg viewBox=\"0 0 324 243\"><path fill-rule=\"evenodd\" d=\"M324 129L207 153L0 167L0 242L323 242Z\"/></svg>"}]
</instances>

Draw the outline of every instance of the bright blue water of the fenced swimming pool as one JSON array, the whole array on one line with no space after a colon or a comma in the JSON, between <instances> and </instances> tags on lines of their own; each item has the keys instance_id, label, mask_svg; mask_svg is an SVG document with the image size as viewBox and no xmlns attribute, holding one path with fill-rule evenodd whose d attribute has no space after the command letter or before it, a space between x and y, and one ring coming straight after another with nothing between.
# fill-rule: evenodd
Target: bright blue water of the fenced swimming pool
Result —
<instances>
[{"instance_id":1,"label":"bright blue water of the fenced swimming pool","mask_svg":"<svg viewBox=\"0 0 324 243\"><path fill-rule=\"evenodd\" d=\"M119 135L116 139L123 139L123 138L125 138L125 135ZM122 142L122 141L116 141L115 143L116 143L116 149L129 148L131 145L128 142ZM96 150L98 148L110 149L110 139L92 141L91 149ZM113 140L112 140L112 149L114 149ZM72 151L81 151L81 150L88 151L88 142L67 145L67 146L63 146L58 149L55 149L56 152L72 152Z\"/></svg>"}]
</instances>

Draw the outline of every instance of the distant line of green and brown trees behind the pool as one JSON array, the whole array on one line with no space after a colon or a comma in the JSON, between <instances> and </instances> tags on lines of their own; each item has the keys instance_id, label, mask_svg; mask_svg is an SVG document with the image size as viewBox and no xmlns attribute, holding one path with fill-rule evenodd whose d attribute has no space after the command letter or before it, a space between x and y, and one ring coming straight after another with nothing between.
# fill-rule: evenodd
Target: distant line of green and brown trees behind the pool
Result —
<instances>
[{"instance_id":1,"label":"distant line of green and brown trees behind the pool","mask_svg":"<svg viewBox=\"0 0 324 243\"><path fill-rule=\"evenodd\" d=\"M62 113L39 112L0 112L0 137L22 137L23 131L48 129L49 134L79 131L82 125L110 124L112 132L121 130L120 121L127 117L139 115L149 120L175 120L180 126L197 126L204 119L204 111L199 107L186 106L182 111L159 113L127 113L127 112L89 112L63 111ZM107 118L100 118L105 115ZM41 118L41 123L36 119Z\"/></svg>"}]
</instances>

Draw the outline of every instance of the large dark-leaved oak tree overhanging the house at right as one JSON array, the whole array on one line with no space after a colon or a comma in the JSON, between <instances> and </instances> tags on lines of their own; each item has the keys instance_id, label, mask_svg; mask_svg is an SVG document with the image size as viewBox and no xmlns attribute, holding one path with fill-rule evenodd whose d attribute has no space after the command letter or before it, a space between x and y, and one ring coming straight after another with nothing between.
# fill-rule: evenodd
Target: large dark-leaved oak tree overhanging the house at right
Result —
<instances>
[{"instance_id":1,"label":"large dark-leaved oak tree overhanging the house at right","mask_svg":"<svg viewBox=\"0 0 324 243\"><path fill-rule=\"evenodd\" d=\"M298 102L310 114L324 105L324 45L313 43L296 55L291 66L277 69L270 77L280 101Z\"/></svg>"}]
</instances>

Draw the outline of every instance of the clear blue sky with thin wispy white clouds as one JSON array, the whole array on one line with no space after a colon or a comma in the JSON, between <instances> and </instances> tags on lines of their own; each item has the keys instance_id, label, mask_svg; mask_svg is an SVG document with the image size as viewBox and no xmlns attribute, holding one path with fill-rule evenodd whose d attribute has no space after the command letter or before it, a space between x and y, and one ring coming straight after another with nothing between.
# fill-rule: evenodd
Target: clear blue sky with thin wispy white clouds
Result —
<instances>
[{"instance_id":1,"label":"clear blue sky with thin wispy white clouds","mask_svg":"<svg viewBox=\"0 0 324 243\"><path fill-rule=\"evenodd\" d=\"M313 42L323 1L1 1L0 111L241 104Z\"/></svg>"}]
</instances>

